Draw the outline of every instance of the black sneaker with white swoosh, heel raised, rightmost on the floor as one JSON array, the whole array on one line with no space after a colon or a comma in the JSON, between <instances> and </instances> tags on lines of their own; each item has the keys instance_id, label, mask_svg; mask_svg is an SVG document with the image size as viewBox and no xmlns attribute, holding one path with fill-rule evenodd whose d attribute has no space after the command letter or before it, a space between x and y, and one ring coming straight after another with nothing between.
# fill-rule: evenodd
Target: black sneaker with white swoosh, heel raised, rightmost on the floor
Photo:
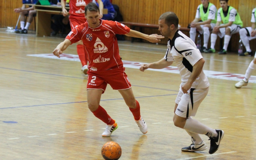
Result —
<instances>
[{"instance_id":1,"label":"black sneaker with white swoosh, heel raised, rightmost on the floor","mask_svg":"<svg viewBox=\"0 0 256 160\"><path fill-rule=\"evenodd\" d=\"M210 150L209 154L214 154L220 146L220 141L224 137L224 131L220 129L216 129L216 132L218 133L217 137L210 137Z\"/></svg>"}]
</instances>

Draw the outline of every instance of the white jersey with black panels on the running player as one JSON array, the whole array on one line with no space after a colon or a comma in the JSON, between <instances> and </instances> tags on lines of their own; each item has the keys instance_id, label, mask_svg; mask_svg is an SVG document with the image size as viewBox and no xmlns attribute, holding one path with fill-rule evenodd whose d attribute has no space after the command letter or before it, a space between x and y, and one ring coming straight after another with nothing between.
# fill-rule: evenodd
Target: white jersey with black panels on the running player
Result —
<instances>
[{"instance_id":1,"label":"white jersey with black panels on the running player","mask_svg":"<svg viewBox=\"0 0 256 160\"><path fill-rule=\"evenodd\" d=\"M176 63L180 70L181 82L185 84L190 78L194 64L203 57L199 49L197 49L196 44L178 30L172 40L169 39L164 58L168 62L174 61ZM209 85L208 78L202 70L198 78L193 82L191 88L202 89L209 87Z\"/></svg>"}]
</instances>

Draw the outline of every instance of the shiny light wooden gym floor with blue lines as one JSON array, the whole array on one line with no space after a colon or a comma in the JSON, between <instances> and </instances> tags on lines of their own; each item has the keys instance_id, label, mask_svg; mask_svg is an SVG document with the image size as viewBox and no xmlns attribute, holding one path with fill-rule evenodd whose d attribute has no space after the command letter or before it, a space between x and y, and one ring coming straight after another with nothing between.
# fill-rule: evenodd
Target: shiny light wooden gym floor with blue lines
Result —
<instances>
[{"instance_id":1,"label":"shiny light wooden gym floor with blue lines","mask_svg":"<svg viewBox=\"0 0 256 160\"><path fill-rule=\"evenodd\" d=\"M184 153L190 136L172 122L180 75L126 68L148 133L139 131L119 92L108 86L100 104L119 127L103 138L105 124L87 108L87 76L80 62L27 56L52 53L63 40L0 29L1 160L102 160L101 147L108 141L122 147L120 160L255 159L255 83L236 89L237 81L209 78L208 96L195 119L225 135L213 155L205 135L207 150ZM144 63L163 58L166 50L165 45L129 41L119 42L119 48L123 60ZM77 54L76 46L64 53ZM235 53L202 55L205 70L236 74L245 74L253 59Z\"/></svg>"}]
</instances>

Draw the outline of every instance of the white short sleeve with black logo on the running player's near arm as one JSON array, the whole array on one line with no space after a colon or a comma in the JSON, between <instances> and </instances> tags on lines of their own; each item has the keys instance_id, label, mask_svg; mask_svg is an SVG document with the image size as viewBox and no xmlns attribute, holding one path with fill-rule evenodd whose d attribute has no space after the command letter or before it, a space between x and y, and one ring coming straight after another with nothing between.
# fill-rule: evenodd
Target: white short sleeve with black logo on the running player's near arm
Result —
<instances>
[{"instance_id":1,"label":"white short sleeve with black logo on the running player's near arm","mask_svg":"<svg viewBox=\"0 0 256 160\"><path fill-rule=\"evenodd\" d=\"M203 58L200 51L192 46L186 39L182 39L179 42L180 43L175 44L175 49L179 54L182 54L192 66Z\"/></svg>"}]
</instances>

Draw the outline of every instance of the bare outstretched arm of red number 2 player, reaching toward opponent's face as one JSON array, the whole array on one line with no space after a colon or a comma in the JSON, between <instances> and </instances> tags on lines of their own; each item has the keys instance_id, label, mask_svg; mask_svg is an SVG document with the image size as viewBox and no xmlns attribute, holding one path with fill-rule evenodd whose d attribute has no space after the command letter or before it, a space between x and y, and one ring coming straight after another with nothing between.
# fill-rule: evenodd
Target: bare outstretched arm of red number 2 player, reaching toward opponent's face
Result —
<instances>
[{"instance_id":1,"label":"bare outstretched arm of red number 2 player, reaching toward opponent's face","mask_svg":"<svg viewBox=\"0 0 256 160\"><path fill-rule=\"evenodd\" d=\"M125 35L129 37L143 38L152 43L160 42L161 41L160 39L164 38L163 36L158 34L148 35L148 34L140 33L138 31L134 31L134 30L130 30L130 32Z\"/></svg>"}]
</instances>

